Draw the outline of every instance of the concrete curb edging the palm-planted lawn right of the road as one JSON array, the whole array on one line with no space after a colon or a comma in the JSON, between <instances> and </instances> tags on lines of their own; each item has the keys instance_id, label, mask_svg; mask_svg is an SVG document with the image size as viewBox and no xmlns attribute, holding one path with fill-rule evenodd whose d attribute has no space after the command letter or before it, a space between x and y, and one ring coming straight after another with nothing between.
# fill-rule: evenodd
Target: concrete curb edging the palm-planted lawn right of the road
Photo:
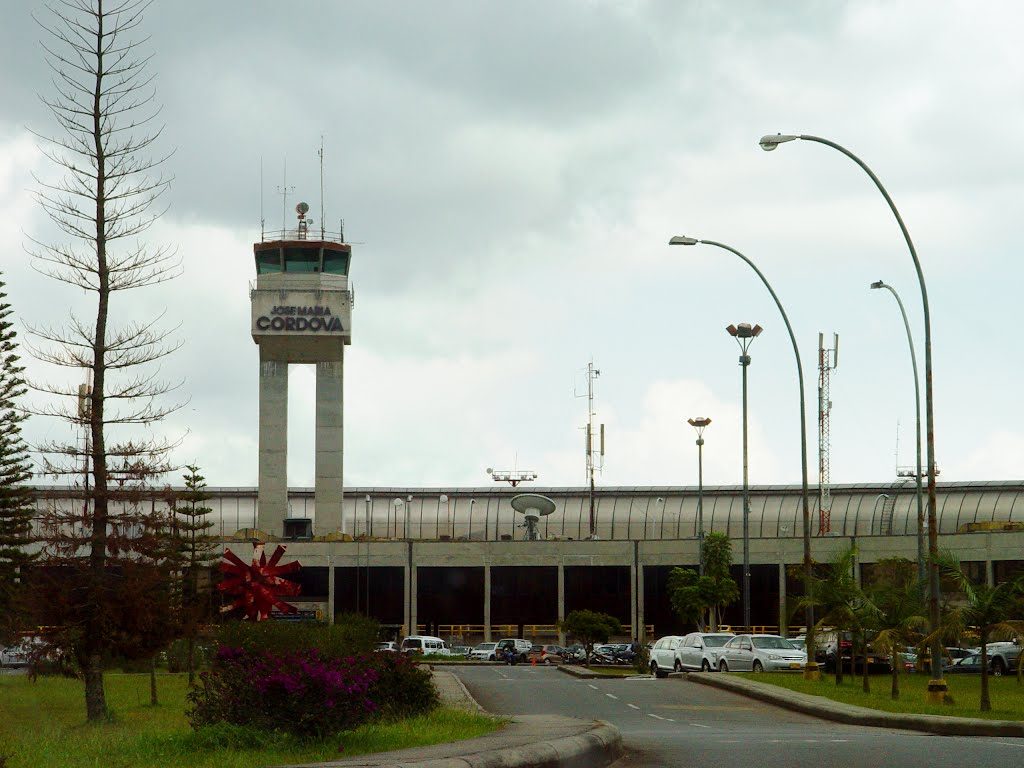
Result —
<instances>
[{"instance_id":1,"label":"concrete curb edging the palm-planted lawn right of the road","mask_svg":"<svg viewBox=\"0 0 1024 768\"><path fill-rule=\"evenodd\" d=\"M943 715L904 715L882 712L866 707L840 703L822 696L799 693L770 683L742 680L728 673L691 673L690 682L739 693L804 715L833 720L847 725L872 728L896 728L922 731L939 736L1011 736L1024 738L1024 722L1016 720L981 720L978 718L946 717Z\"/></svg>"}]
</instances>

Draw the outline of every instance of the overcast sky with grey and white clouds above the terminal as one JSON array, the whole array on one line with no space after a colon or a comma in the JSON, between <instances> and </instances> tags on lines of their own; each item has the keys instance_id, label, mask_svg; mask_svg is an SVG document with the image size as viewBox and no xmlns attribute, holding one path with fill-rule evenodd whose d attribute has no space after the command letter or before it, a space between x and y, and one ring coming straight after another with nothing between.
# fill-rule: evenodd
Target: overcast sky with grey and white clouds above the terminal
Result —
<instances>
[{"instance_id":1,"label":"overcast sky with grey and white clouds above the terminal","mask_svg":"<svg viewBox=\"0 0 1024 768\"><path fill-rule=\"evenodd\" d=\"M0 268L24 323L81 297L36 273L49 230L30 130L52 133L41 36L0 29ZM38 10L38 8L37 8ZM484 468L584 481L584 371L601 370L603 484L695 484L687 417L714 420L709 483L740 482L740 369L730 323L765 329L750 369L751 479L798 482L796 366L756 275L672 234L728 243L772 281L804 358L817 477L817 339L840 334L834 482L913 462L900 291L923 366L920 289L860 155L900 207L928 281L940 479L1019 479L1024 361L1016 317L1024 200L1024 9L1014 2L170 2L144 22L174 150L170 209L147 233L178 280L118 297L166 309L184 343L164 373L188 404L158 429L211 485L257 477L249 333L261 198L281 225L321 208L353 243L345 359L349 485L483 485ZM259 168L264 182L261 193ZM293 214L289 214L291 225ZM317 225L318 226L318 225ZM30 361L34 376L55 376ZM313 370L293 367L289 481L313 478ZM30 439L66 432L33 418Z\"/></svg>"}]
</instances>

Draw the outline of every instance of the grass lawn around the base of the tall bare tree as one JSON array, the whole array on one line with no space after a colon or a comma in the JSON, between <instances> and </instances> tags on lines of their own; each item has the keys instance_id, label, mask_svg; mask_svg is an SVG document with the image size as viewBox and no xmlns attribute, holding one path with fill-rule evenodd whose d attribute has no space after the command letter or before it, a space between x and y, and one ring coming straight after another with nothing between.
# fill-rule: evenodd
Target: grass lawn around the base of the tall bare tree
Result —
<instances>
[{"instance_id":1,"label":"grass lawn around the base of the tall bare tree","mask_svg":"<svg viewBox=\"0 0 1024 768\"><path fill-rule=\"evenodd\" d=\"M106 675L112 721L85 723L82 683L63 678L29 682L0 676L0 765L6 768L243 768L282 765L423 746L489 733L501 722L440 709L397 723L371 724L328 741L307 743L278 734L218 726L195 732L185 720L184 675L160 675L160 707L151 707L147 675Z\"/></svg>"}]
</instances>

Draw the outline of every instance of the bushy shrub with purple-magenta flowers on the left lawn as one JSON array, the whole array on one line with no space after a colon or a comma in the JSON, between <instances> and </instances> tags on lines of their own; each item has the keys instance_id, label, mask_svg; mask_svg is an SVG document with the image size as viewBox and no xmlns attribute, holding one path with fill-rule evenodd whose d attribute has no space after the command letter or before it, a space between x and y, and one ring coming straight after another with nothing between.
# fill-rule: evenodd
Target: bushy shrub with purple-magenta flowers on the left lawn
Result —
<instances>
[{"instance_id":1,"label":"bushy shrub with purple-magenta flowers on the left lawn","mask_svg":"<svg viewBox=\"0 0 1024 768\"><path fill-rule=\"evenodd\" d=\"M302 737L347 730L378 710L370 697L378 673L368 662L316 649L274 654L222 646L188 694L188 721L194 728L229 723Z\"/></svg>"}]
</instances>

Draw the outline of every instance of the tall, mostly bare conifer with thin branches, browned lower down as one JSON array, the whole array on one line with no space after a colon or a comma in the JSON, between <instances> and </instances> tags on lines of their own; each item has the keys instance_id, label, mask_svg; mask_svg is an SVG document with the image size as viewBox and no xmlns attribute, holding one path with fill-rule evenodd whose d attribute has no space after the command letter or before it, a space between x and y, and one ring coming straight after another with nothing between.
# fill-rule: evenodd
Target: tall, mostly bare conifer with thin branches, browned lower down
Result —
<instances>
[{"instance_id":1,"label":"tall, mostly bare conifer with thin branches, browned lower down","mask_svg":"<svg viewBox=\"0 0 1024 768\"><path fill-rule=\"evenodd\" d=\"M111 311L116 293L179 271L173 249L141 240L164 212L169 183L161 173L166 156L152 154L162 128L152 55L139 37L147 6L56 0L36 19L52 72L53 94L41 98L57 126L37 136L61 178L36 179L37 201L57 233L31 239L29 252L39 271L95 301L94 319L72 310L59 326L29 327L33 354L69 380L31 381L46 395L34 412L74 428L68 439L36 446L44 473L84 485L80 509L53 505L44 515L40 589L65 590L52 608L62 613L47 617L81 665L90 721L106 716L101 660L123 635L116 617L132 599L125 580L148 557L144 502L156 494L154 478L170 469L173 443L148 427L180 407L163 404L177 385L162 381L155 364L177 345L161 316Z\"/></svg>"}]
</instances>

